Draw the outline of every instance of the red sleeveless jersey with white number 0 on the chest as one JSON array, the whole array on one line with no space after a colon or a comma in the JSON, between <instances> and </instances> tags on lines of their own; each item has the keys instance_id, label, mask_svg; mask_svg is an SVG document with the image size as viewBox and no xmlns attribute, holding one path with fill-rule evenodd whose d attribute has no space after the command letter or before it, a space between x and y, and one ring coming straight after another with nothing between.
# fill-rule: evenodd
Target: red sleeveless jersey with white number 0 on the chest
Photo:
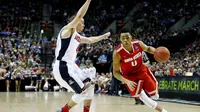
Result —
<instances>
[{"instance_id":1,"label":"red sleeveless jersey with white number 0 on the chest","mask_svg":"<svg viewBox=\"0 0 200 112\"><path fill-rule=\"evenodd\" d=\"M120 66L123 75L132 74L138 71L143 64L143 49L140 47L139 41L133 40L131 44L133 48L132 52L127 51L122 44L116 48L116 51L121 57Z\"/></svg>"}]
</instances>

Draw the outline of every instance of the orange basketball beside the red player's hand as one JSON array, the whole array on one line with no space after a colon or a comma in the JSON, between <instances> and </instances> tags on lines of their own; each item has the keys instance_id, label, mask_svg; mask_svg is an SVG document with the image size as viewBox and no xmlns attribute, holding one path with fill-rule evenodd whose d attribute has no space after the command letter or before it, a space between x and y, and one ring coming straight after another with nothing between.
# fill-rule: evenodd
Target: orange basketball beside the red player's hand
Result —
<instances>
[{"instance_id":1,"label":"orange basketball beside the red player's hand","mask_svg":"<svg viewBox=\"0 0 200 112\"><path fill-rule=\"evenodd\" d=\"M166 47L158 47L154 53L157 62L166 62L170 58L170 52Z\"/></svg>"}]
</instances>

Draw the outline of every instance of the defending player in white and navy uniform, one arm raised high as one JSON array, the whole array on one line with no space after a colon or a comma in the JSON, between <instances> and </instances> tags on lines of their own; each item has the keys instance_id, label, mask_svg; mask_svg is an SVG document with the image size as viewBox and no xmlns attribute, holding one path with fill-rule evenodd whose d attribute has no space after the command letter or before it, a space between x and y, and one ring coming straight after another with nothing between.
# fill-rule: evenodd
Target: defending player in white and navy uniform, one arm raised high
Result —
<instances>
[{"instance_id":1,"label":"defending player in white and navy uniform, one arm raised high","mask_svg":"<svg viewBox=\"0 0 200 112\"><path fill-rule=\"evenodd\" d=\"M57 112L68 112L76 104L93 97L88 93L91 86L83 83L86 77L82 75L80 68L75 64L78 47L80 43L91 44L107 39L110 33L89 38L78 34L78 32L82 32L84 29L83 17L88 10L90 2L91 0L87 0L73 20L64 26L58 34L55 51L56 61L53 67L54 77L62 87L74 91L76 94ZM88 107L87 102L84 102L84 104L85 107Z\"/></svg>"}]
</instances>

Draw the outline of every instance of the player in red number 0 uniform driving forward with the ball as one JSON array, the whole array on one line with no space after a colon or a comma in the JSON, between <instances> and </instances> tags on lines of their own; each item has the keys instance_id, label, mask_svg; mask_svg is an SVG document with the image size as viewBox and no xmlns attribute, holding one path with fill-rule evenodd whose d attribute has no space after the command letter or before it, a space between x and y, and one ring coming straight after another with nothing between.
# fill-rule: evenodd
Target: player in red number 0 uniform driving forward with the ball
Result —
<instances>
[{"instance_id":1,"label":"player in red number 0 uniform driving forward with the ball","mask_svg":"<svg viewBox=\"0 0 200 112\"><path fill-rule=\"evenodd\" d=\"M128 30L121 32L120 41L121 44L113 53L114 76L126 85L133 97L139 97L148 107L158 112L167 112L152 100L159 98L158 82L142 60L143 51L154 54L155 48L132 40Z\"/></svg>"}]
</instances>

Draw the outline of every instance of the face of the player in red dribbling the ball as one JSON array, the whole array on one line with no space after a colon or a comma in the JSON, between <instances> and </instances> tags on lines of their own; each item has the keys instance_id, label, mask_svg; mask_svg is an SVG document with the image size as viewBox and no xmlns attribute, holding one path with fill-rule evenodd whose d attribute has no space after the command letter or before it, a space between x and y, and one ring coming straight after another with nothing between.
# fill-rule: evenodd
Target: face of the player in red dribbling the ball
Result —
<instances>
[{"instance_id":1,"label":"face of the player in red dribbling the ball","mask_svg":"<svg viewBox=\"0 0 200 112\"><path fill-rule=\"evenodd\" d=\"M120 41L122 42L123 46L131 45L131 40L132 40L132 37L131 37L130 33L121 33L120 34Z\"/></svg>"}]
</instances>

